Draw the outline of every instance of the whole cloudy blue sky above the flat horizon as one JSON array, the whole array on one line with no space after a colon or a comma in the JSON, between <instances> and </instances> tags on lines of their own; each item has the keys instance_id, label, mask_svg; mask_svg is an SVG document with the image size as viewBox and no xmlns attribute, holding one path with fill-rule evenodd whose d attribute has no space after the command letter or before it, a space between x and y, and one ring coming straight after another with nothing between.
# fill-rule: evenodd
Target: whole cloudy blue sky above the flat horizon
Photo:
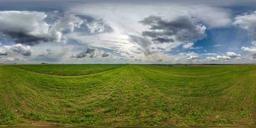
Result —
<instances>
[{"instance_id":1,"label":"whole cloudy blue sky above the flat horizon","mask_svg":"<svg viewBox=\"0 0 256 128\"><path fill-rule=\"evenodd\" d=\"M256 63L255 0L1 0L0 63Z\"/></svg>"}]
</instances>

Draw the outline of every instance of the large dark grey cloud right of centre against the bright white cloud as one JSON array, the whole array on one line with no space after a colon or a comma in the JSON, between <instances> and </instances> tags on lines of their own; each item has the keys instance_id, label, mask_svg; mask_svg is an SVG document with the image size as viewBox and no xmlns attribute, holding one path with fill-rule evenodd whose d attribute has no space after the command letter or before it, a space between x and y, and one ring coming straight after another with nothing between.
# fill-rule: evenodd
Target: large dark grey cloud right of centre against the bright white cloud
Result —
<instances>
[{"instance_id":1,"label":"large dark grey cloud right of centre against the bright white cloud","mask_svg":"<svg viewBox=\"0 0 256 128\"><path fill-rule=\"evenodd\" d=\"M171 20L163 20L158 16L150 16L140 21L150 26L152 31L143 31L143 36L152 38L157 43L193 42L205 37L205 26L198 24L195 19L188 16L179 16Z\"/></svg>"}]
</instances>

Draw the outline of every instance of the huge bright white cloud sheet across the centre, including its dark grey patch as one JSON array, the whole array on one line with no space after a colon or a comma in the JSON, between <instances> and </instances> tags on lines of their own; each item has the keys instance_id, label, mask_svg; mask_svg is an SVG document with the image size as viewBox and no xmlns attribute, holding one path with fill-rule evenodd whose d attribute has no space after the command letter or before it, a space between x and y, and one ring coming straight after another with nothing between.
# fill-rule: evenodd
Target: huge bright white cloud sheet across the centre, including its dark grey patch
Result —
<instances>
[{"instance_id":1,"label":"huge bright white cloud sheet across the centre, including its dark grey patch","mask_svg":"<svg viewBox=\"0 0 256 128\"><path fill-rule=\"evenodd\" d=\"M159 52L164 56L157 55L158 59L172 56L166 52L174 51L175 48L192 49L196 40L206 36L206 28L221 28L232 23L230 12L225 9L172 2L88 3L74 6L68 11L103 19L113 29L109 33L90 36L72 33L68 35L69 38L79 40L89 47L123 52L120 58L127 60L136 58L152 61L157 58L153 54L160 54Z\"/></svg>"}]
</instances>

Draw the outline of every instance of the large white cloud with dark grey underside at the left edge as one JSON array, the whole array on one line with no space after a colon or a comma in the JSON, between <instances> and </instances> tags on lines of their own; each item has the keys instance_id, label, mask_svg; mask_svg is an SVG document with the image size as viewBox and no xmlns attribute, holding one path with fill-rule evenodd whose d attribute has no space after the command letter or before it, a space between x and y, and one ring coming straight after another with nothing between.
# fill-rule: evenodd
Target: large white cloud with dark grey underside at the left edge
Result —
<instances>
[{"instance_id":1,"label":"large white cloud with dark grey underside at the left edge","mask_svg":"<svg viewBox=\"0 0 256 128\"><path fill-rule=\"evenodd\" d=\"M0 11L0 35L26 45L58 40L61 33L51 31L45 17L42 12Z\"/></svg>"}]
</instances>

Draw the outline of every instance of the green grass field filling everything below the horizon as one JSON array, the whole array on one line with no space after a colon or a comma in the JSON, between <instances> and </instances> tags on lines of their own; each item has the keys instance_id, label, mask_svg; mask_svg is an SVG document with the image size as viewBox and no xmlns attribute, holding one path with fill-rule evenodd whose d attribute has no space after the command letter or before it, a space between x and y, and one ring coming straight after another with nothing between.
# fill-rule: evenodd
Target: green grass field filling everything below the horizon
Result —
<instances>
[{"instance_id":1,"label":"green grass field filling everything below the horizon","mask_svg":"<svg viewBox=\"0 0 256 128\"><path fill-rule=\"evenodd\" d=\"M255 126L253 65L2 65L0 125Z\"/></svg>"}]
</instances>

